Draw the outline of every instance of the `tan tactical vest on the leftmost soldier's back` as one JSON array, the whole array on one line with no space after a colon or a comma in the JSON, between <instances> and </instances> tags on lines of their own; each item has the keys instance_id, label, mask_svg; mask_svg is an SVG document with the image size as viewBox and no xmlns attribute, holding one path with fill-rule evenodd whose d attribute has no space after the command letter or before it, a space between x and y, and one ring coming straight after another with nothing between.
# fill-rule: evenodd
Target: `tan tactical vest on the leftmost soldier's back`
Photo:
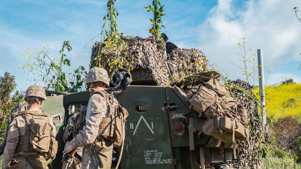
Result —
<instances>
[{"instance_id":1,"label":"tan tactical vest on the leftmost soldier's back","mask_svg":"<svg viewBox=\"0 0 301 169\"><path fill-rule=\"evenodd\" d=\"M27 129L24 136L19 136L16 152L47 153L50 147L50 123L47 113L22 111L16 116L24 116Z\"/></svg>"}]
</instances>

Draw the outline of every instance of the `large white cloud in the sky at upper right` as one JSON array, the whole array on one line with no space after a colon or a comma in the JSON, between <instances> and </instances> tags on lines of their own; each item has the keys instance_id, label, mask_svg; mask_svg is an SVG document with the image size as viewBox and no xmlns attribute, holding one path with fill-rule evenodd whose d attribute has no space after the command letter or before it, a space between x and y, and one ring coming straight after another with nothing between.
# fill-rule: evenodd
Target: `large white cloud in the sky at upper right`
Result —
<instances>
[{"instance_id":1,"label":"large white cloud in the sky at upper right","mask_svg":"<svg viewBox=\"0 0 301 169\"><path fill-rule=\"evenodd\" d=\"M241 59L234 56L234 53L239 52L237 43L242 43L242 38L246 37L246 48L252 48L254 54L257 54L257 49L263 49L264 65L301 62L300 57L296 56L296 53L301 52L298 47L301 43L301 38L299 38L301 31L293 31L300 29L301 23L293 22L297 20L292 10L294 6L300 4L299 1L251 0L245 4L239 3L241 2L219 1L218 5L210 10L206 20L200 24L200 35L216 34L208 38L213 40L199 42L199 48L206 53L208 59L211 59L224 70L232 70L231 62L237 62L238 59ZM203 40L203 38L199 40ZM214 42L218 43L211 44ZM252 51L248 52L249 54L252 54ZM279 70L280 67L281 70ZM297 82L301 82L299 72L291 73L290 66L279 65L273 66L271 69L274 72L271 82L284 74L290 75ZM237 77L242 77L241 71L229 73L231 79L234 80Z\"/></svg>"}]
</instances>

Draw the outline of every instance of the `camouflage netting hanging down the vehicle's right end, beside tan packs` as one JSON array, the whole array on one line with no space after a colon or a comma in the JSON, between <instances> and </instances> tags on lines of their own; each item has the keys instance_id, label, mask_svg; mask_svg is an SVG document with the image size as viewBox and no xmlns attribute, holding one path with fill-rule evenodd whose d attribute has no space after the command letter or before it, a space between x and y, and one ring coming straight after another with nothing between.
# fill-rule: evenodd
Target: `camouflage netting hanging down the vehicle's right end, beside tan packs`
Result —
<instances>
[{"instance_id":1,"label":"camouflage netting hanging down the vehicle's right end, beside tan packs","mask_svg":"<svg viewBox=\"0 0 301 169\"><path fill-rule=\"evenodd\" d=\"M236 86L239 86L245 89L249 93L252 92L252 86L242 80L232 81ZM246 107L248 110L248 124L250 124L253 128L250 129L250 149L247 141L238 142L238 158L239 158L239 168L246 169L256 169L260 168L260 162L258 160L260 143L262 139L261 135L261 124L260 124L260 115L258 111L257 98L254 96L253 99L249 98L245 93L233 89L232 93L237 101ZM268 135L268 134L267 134ZM266 140L269 140L266 138Z\"/></svg>"}]
</instances>

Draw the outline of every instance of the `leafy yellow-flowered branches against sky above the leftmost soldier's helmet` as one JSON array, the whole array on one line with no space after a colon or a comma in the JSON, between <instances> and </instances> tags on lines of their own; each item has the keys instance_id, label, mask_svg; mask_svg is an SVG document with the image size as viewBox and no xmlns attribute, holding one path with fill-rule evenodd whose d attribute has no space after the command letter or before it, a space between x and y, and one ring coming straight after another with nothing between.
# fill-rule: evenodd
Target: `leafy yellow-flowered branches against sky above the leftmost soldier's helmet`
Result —
<instances>
[{"instance_id":1,"label":"leafy yellow-flowered branches against sky above the leftmost soldier's helmet","mask_svg":"<svg viewBox=\"0 0 301 169\"><path fill-rule=\"evenodd\" d=\"M60 57L50 56L48 47L49 45L47 44L47 48L44 47L44 49L39 52L33 52L28 47L28 50L26 50L25 53L21 53L22 55L24 54L24 57L26 57L27 61L24 65L20 65L19 68L25 70L24 74L27 73L28 75L29 73L32 73L33 75L37 75L33 81L44 82L47 84L47 89L52 88L54 91L64 92L80 91L82 89L82 81L84 78L82 75L86 74L85 68L79 67L78 69L74 70L74 75L72 73L66 74L63 71L63 65L70 66L70 60L66 59L66 54L64 54L65 50L68 52L72 50L69 41L64 41L62 49L59 51L61 54ZM67 77L68 75L71 76L69 77L69 80Z\"/></svg>"}]
</instances>

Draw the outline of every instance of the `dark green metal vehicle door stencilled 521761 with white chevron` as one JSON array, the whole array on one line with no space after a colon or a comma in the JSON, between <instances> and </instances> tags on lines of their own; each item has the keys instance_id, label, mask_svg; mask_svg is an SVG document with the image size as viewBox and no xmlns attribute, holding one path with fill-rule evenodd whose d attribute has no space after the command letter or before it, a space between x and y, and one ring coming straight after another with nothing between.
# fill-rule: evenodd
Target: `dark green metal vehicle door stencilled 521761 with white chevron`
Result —
<instances>
[{"instance_id":1,"label":"dark green metal vehicle door stencilled 521761 with white chevron","mask_svg":"<svg viewBox=\"0 0 301 169\"><path fill-rule=\"evenodd\" d=\"M129 112L121 168L174 168L165 88L128 86L118 97Z\"/></svg>"}]
</instances>

